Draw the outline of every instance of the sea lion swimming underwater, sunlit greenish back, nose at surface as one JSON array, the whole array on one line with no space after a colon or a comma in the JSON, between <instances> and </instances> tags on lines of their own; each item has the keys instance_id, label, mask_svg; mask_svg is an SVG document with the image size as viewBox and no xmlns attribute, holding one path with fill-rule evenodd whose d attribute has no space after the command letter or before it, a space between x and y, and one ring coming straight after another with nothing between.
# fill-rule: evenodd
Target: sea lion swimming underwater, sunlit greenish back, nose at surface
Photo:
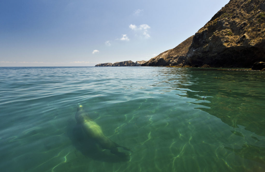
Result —
<instances>
[{"instance_id":1,"label":"sea lion swimming underwater, sunlit greenish back, nose at surface","mask_svg":"<svg viewBox=\"0 0 265 172\"><path fill-rule=\"evenodd\" d=\"M101 146L101 148L109 149L111 150L111 153L118 156L126 156L125 153L118 151L118 147L121 147L127 151L131 151L130 149L124 146L118 145L117 143L113 142L110 138L105 136L101 130L101 127L95 121L90 119L88 113L85 112L82 105L77 106L77 112L75 118L77 121L77 125L80 125L86 136L94 140L95 143Z\"/></svg>"}]
</instances>

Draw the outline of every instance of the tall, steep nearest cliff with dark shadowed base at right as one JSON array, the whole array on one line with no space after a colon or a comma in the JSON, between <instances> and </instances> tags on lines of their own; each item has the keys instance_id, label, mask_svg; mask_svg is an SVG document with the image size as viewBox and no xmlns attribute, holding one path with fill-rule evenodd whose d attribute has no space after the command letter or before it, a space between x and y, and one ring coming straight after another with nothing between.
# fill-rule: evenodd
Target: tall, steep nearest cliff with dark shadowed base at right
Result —
<instances>
[{"instance_id":1,"label":"tall, steep nearest cliff with dark shadowed base at right","mask_svg":"<svg viewBox=\"0 0 265 172\"><path fill-rule=\"evenodd\" d=\"M198 30L187 54L193 67L245 67L265 61L265 0L231 0Z\"/></svg>"}]
</instances>

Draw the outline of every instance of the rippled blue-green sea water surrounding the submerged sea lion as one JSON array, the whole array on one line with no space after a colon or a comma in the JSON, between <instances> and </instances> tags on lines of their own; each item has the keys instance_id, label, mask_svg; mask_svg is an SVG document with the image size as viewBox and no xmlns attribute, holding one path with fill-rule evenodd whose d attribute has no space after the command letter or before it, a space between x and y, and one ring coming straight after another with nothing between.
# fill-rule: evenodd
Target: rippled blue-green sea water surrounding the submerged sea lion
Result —
<instances>
[{"instance_id":1,"label":"rippled blue-green sea water surrounding the submerged sea lion","mask_svg":"<svg viewBox=\"0 0 265 172\"><path fill-rule=\"evenodd\" d=\"M1 171L264 171L265 73L0 68ZM118 157L74 130L76 107Z\"/></svg>"}]
</instances>

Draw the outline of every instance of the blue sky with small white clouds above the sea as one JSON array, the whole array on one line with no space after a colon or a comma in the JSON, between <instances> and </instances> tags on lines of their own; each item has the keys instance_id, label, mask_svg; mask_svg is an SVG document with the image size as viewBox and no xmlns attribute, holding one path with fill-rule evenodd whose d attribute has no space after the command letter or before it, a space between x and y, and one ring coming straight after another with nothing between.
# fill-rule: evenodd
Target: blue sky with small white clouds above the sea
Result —
<instances>
[{"instance_id":1,"label":"blue sky with small white clouds above the sea","mask_svg":"<svg viewBox=\"0 0 265 172\"><path fill-rule=\"evenodd\" d=\"M229 0L0 0L0 67L149 60Z\"/></svg>"}]
</instances>

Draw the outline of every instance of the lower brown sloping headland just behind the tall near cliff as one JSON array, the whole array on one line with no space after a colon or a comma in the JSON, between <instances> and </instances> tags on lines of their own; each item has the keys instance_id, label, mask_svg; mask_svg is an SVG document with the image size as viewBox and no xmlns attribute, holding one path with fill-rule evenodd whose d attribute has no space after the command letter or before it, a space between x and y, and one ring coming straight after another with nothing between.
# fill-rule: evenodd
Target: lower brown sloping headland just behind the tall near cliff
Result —
<instances>
[{"instance_id":1,"label":"lower brown sloping headland just behind the tall near cliff","mask_svg":"<svg viewBox=\"0 0 265 172\"><path fill-rule=\"evenodd\" d=\"M193 36L189 37L175 48L162 52L158 56L148 60L146 63L142 64L142 66L182 66L186 59L189 46L192 43Z\"/></svg>"}]
</instances>

